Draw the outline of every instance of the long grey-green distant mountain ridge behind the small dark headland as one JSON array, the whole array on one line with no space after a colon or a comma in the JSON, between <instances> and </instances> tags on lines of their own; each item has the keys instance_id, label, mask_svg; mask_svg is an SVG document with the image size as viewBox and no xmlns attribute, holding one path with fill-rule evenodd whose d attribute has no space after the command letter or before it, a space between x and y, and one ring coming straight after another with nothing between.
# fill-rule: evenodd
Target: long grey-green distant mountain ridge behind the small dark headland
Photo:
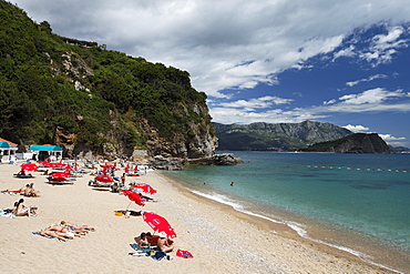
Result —
<instances>
[{"instance_id":1,"label":"long grey-green distant mountain ridge behind the small dark headland","mask_svg":"<svg viewBox=\"0 0 410 274\"><path fill-rule=\"evenodd\" d=\"M218 150L228 151L293 151L308 145L337 140L352 132L331 123L213 123Z\"/></svg>"}]
</instances>

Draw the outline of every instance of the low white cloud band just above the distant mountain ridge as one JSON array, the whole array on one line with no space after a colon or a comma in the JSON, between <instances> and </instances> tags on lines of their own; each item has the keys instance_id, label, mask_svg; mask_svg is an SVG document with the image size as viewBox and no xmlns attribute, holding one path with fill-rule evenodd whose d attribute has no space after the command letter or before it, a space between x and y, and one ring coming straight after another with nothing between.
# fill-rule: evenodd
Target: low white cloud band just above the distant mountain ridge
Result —
<instances>
[{"instance_id":1,"label":"low white cloud band just above the distant mountain ridge","mask_svg":"<svg viewBox=\"0 0 410 274\"><path fill-rule=\"evenodd\" d=\"M339 99L324 102L319 106L294 108L289 110L273 109L260 111L275 104L289 103L289 99L266 97L250 100L238 100L230 103L209 103L209 114L217 118L219 123L250 123L250 122L301 122L305 120L320 120L335 113L363 113L363 112L409 112L410 93L401 90L388 91L386 89L367 90L359 94L346 94ZM399 101L398 101L399 100ZM349 125L353 126L353 125ZM352 128L355 129L355 128ZM357 129L360 129L357 126ZM365 126L362 128L365 130Z\"/></svg>"}]
</instances>

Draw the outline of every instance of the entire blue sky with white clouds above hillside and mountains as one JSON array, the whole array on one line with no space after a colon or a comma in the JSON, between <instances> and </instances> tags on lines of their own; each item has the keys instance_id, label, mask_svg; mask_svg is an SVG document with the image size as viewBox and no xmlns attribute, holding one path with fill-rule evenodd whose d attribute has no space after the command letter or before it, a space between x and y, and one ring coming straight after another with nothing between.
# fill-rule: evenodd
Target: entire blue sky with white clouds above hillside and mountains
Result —
<instances>
[{"instance_id":1,"label":"entire blue sky with white clouds above hillside and mountains","mask_svg":"<svg viewBox=\"0 0 410 274\"><path fill-rule=\"evenodd\" d=\"M191 74L214 122L330 122L410 148L409 0L13 0Z\"/></svg>"}]
</instances>

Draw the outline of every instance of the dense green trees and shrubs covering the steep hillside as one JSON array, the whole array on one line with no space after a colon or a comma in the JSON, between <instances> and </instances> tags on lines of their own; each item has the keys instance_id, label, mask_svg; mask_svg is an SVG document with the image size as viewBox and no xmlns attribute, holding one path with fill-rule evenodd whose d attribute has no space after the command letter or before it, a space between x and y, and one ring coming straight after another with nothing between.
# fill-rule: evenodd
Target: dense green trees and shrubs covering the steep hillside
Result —
<instances>
[{"instance_id":1,"label":"dense green trees and shrubs covering the steep hillside","mask_svg":"<svg viewBox=\"0 0 410 274\"><path fill-rule=\"evenodd\" d=\"M0 22L2 138L102 145L111 135L144 149L144 123L168 140L193 135L193 121L204 134L212 130L207 111L194 111L207 110L206 95L191 87L188 72L64 39L4 0Z\"/></svg>"}]
</instances>

